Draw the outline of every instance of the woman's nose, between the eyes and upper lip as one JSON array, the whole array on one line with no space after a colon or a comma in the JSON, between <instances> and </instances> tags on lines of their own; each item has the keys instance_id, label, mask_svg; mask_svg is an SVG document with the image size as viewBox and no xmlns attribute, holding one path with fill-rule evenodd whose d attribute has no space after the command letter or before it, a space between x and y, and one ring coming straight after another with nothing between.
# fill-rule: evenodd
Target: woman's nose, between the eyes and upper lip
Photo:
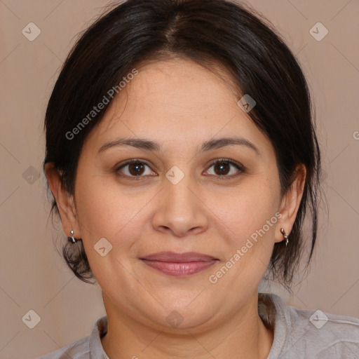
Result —
<instances>
[{"instance_id":1,"label":"woman's nose, between the eyes and upper lip","mask_svg":"<svg viewBox=\"0 0 359 359\"><path fill-rule=\"evenodd\" d=\"M154 229L177 237L206 231L208 208L190 176L184 175L177 184L165 178L163 185L164 188L156 199L156 212L152 217Z\"/></svg>"}]
</instances>

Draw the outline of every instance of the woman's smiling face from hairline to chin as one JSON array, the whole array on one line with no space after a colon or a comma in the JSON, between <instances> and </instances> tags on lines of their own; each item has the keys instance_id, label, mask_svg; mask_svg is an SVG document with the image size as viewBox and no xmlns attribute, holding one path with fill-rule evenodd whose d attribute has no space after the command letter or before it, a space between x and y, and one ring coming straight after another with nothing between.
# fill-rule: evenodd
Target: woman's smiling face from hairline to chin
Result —
<instances>
[{"instance_id":1,"label":"woman's smiling face from hairline to chin","mask_svg":"<svg viewBox=\"0 0 359 359\"><path fill-rule=\"evenodd\" d=\"M82 238L108 311L162 328L217 325L257 295L297 208L279 214L274 149L228 82L189 60L138 70L83 145L74 221L62 224ZM107 145L125 137L158 149ZM240 140L203 148L224 137ZM163 251L217 260L179 276L142 260Z\"/></svg>"}]
</instances>

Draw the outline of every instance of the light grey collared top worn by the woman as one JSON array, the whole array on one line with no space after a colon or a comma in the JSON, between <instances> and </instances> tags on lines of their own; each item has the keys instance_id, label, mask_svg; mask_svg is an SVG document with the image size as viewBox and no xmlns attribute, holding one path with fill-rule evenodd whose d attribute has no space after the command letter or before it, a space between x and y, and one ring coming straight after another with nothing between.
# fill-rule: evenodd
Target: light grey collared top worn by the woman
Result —
<instances>
[{"instance_id":1,"label":"light grey collared top worn by the woman","mask_svg":"<svg viewBox=\"0 0 359 359\"><path fill-rule=\"evenodd\" d=\"M274 326L267 359L359 359L359 318L295 309L270 293L259 293L258 303L259 316ZM106 333L104 316L95 322L90 336L39 359L109 359L100 341Z\"/></svg>"}]
</instances>

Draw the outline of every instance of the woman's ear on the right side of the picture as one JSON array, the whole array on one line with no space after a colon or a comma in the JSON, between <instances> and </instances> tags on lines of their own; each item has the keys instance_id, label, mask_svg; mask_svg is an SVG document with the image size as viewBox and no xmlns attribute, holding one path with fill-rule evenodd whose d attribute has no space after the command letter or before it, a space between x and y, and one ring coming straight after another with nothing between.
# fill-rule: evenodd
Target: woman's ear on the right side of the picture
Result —
<instances>
[{"instance_id":1,"label":"woman's ear on the right side of the picture","mask_svg":"<svg viewBox=\"0 0 359 359\"><path fill-rule=\"evenodd\" d=\"M285 230L285 233L287 233L288 236L290 235L290 231L292 231L298 208L302 201L305 179L306 167L301 163L297 165L292 185L283 196L280 204L279 212L282 216L278 219L278 230L276 231L275 238L276 242L281 242L284 239L283 234L280 233L281 228Z\"/></svg>"}]
</instances>

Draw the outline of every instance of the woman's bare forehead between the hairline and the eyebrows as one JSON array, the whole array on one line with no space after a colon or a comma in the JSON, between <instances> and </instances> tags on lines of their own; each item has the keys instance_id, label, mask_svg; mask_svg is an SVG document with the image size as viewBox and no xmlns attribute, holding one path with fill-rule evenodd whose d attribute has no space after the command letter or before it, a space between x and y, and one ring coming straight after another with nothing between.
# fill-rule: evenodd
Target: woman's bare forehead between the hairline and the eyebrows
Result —
<instances>
[{"instance_id":1,"label":"woman's bare forehead between the hairline and the eyebrows","mask_svg":"<svg viewBox=\"0 0 359 359\"><path fill-rule=\"evenodd\" d=\"M212 71L191 60L172 59L144 63L136 69L138 74L114 97L99 126L90 133L91 142L121 135L180 146L183 141L197 144L236 134L269 145L238 106L233 81L223 68Z\"/></svg>"}]
</instances>

